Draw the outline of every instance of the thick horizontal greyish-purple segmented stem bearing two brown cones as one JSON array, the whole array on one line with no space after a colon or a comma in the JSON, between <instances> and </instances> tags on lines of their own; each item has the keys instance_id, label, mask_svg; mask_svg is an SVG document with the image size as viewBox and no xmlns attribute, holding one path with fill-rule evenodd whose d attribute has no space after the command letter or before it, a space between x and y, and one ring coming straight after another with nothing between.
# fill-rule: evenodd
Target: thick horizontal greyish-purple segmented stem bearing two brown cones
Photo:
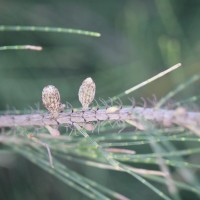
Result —
<instances>
[{"instance_id":1,"label":"thick horizontal greyish-purple segmented stem bearing two brown cones","mask_svg":"<svg viewBox=\"0 0 200 200\"><path fill-rule=\"evenodd\" d=\"M0 127L27 127L46 125L73 125L74 123L88 123L98 121L128 121L133 124L143 124L145 120L159 123L165 127L174 124L195 131L200 125L200 113L188 112L183 108L176 110L142 108L142 107L110 107L98 110L78 110L59 113L57 119L50 114L25 114L25 115L2 115L0 116ZM139 126L138 126L139 127ZM145 123L141 126L145 128ZM197 128L198 129L198 128Z\"/></svg>"}]
</instances>

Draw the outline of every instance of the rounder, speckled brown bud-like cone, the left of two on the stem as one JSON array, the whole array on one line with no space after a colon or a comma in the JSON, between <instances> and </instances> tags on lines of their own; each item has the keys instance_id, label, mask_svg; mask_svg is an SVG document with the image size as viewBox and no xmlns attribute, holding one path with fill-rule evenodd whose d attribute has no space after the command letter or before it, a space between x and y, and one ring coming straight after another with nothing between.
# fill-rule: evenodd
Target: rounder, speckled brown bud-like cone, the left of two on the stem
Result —
<instances>
[{"instance_id":1,"label":"rounder, speckled brown bud-like cone, the left of two on the stem","mask_svg":"<svg viewBox=\"0 0 200 200\"><path fill-rule=\"evenodd\" d=\"M53 85L44 87L42 91L42 102L45 108L53 115L57 117L60 110L60 93L58 89Z\"/></svg>"}]
</instances>

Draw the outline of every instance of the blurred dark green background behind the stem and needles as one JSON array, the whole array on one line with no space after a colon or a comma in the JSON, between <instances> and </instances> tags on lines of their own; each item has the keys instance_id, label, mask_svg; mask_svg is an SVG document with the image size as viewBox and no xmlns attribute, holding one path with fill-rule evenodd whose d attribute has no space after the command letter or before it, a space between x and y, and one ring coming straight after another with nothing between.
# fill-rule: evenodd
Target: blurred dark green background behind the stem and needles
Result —
<instances>
[{"instance_id":1,"label":"blurred dark green background behind the stem and needles","mask_svg":"<svg viewBox=\"0 0 200 200\"><path fill-rule=\"evenodd\" d=\"M41 52L0 52L0 110L41 105L41 91L48 84L59 88L63 102L80 107L77 93L86 77L96 82L96 99L107 99L181 62L181 69L133 95L139 99L155 94L159 99L199 73L198 0L0 0L0 13L1 25L66 27L102 34L94 38L0 32L0 46L31 44L44 48ZM177 99L196 92L198 88L191 87ZM86 199L28 161L9 157L0 171L0 199ZM19 159L21 162L16 162ZM159 199L128 175L71 167L135 199Z\"/></svg>"}]
</instances>

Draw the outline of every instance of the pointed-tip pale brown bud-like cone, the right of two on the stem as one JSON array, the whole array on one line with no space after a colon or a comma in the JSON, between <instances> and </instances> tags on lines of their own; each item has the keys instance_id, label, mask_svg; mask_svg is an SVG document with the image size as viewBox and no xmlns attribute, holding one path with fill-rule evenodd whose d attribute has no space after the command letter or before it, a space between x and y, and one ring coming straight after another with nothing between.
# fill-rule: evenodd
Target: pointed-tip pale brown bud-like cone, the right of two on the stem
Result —
<instances>
[{"instance_id":1,"label":"pointed-tip pale brown bud-like cone, the right of two on the stem","mask_svg":"<svg viewBox=\"0 0 200 200\"><path fill-rule=\"evenodd\" d=\"M83 110L88 109L95 97L96 85L92 78L86 78L79 88L79 101L82 104Z\"/></svg>"}]
</instances>

